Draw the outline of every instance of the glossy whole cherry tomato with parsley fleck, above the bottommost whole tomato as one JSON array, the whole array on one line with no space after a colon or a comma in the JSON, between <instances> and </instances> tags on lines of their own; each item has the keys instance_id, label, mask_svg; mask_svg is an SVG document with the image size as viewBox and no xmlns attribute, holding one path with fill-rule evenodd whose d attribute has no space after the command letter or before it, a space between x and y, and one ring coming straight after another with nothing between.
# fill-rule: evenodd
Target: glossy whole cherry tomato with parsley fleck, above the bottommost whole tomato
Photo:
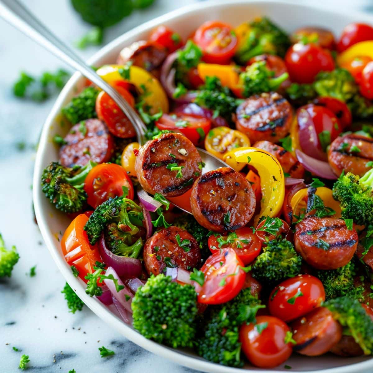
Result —
<instances>
[{"instance_id":1,"label":"glossy whole cherry tomato with parsley fleck, above the bottommost whole tomato","mask_svg":"<svg viewBox=\"0 0 373 373\"><path fill-rule=\"evenodd\" d=\"M325 301L322 282L311 275L298 275L277 285L269 296L271 315L283 321L304 316Z\"/></svg>"}]
</instances>

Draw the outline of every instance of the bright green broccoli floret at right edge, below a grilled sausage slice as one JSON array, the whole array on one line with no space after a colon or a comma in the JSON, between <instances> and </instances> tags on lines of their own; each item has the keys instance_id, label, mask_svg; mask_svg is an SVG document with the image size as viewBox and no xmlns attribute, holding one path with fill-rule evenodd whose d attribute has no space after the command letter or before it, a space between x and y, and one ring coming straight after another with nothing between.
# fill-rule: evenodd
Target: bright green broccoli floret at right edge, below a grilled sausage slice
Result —
<instances>
[{"instance_id":1,"label":"bright green broccoli floret at right edge, below a grilled sausage slice","mask_svg":"<svg viewBox=\"0 0 373 373\"><path fill-rule=\"evenodd\" d=\"M333 197L341 202L342 217L357 224L373 224L373 169L361 178L342 172L333 186Z\"/></svg>"}]
</instances>

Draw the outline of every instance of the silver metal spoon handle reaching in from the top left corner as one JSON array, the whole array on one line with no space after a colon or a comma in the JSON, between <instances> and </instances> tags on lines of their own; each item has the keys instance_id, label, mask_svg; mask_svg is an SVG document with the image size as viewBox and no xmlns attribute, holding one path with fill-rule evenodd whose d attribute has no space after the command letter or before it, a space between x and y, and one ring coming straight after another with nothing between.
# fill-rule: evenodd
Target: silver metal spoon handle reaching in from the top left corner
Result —
<instances>
[{"instance_id":1,"label":"silver metal spoon handle reaching in from the top left corner","mask_svg":"<svg viewBox=\"0 0 373 373\"><path fill-rule=\"evenodd\" d=\"M97 87L109 94L131 121L140 144L144 144L146 127L135 110L132 109L128 102L111 85L98 76L84 60L66 46L66 44L62 43L59 38L49 31L18 0L0 0L0 16L41 46L51 51L73 69L80 71Z\"/></svg>"}]
</instances>

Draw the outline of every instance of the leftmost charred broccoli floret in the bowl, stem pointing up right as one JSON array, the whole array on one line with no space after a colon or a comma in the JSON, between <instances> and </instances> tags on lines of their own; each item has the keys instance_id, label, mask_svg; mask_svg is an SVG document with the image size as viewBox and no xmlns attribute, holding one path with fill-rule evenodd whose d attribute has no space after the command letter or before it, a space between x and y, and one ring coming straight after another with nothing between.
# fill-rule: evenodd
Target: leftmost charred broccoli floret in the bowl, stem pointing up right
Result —
<instances>
[{"instance_id":1,"label":"leftmost charred broccoli floret in the bowl, stem pointing up right","mask_svg":"<svg viewBox=\"0 0 373 373\"><path fill-rule=\"evenodd\" d=\"M90 161L84 167L69 168L51 162L41 176L41 190L57 209L66 213L80 211L87 200L84 181L95 165Z\"/></svg>"}]
</instances>

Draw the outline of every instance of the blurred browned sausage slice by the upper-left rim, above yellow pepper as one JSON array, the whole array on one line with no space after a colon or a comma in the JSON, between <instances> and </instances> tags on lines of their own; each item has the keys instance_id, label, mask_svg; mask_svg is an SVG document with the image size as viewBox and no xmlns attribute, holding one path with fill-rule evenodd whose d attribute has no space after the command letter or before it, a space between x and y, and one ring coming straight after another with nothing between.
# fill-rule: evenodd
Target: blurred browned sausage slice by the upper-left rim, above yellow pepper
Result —
<instances>
[{"instance_id":1,"label":"blurred browned sausage slice by the upper-left rim, above yellow pepper","mask_svg":"<svg viewBox=\"0 0 373 373\"><path fill-rule=\"evenodd\" d=\"M166 57L166 48L151 41L141 40L123 48L119 53L117 63L124 65L131 61L135 66L153 72L153 70L160 68Z\"/></svg>"}]
</instances>

